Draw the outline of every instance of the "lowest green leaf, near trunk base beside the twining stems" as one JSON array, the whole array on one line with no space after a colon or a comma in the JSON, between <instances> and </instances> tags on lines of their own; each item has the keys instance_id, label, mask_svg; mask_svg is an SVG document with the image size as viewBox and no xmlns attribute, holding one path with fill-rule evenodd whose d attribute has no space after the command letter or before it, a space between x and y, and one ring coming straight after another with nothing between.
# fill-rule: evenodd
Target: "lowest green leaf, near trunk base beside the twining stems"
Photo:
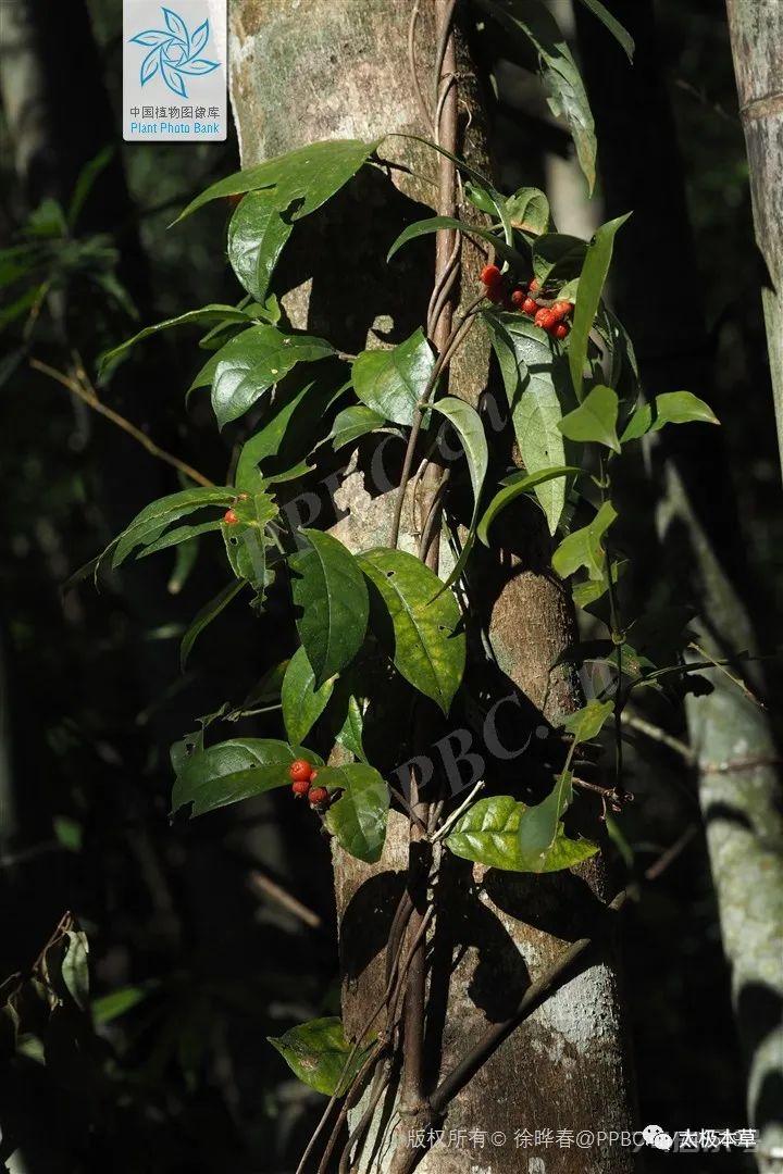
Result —
<instances>
[{"instance_id":1,"label":"lowest green leaf, near trunk base beside the twining stems","mask_svg":"<svg viewBox=\"0 0 783 1174\"><path fill-rule=\"evenodd\" d=\"M266 1037L277 1048L295 1077L325 1097L343 1094L364 1064L366 1047L357 1048L347 1064L351 1045L345 1039L342 1020L311 1019L291 1027L283 1035ZM347 1067L346 1067L347 1065Z\"/></svg>"}]
</instances>

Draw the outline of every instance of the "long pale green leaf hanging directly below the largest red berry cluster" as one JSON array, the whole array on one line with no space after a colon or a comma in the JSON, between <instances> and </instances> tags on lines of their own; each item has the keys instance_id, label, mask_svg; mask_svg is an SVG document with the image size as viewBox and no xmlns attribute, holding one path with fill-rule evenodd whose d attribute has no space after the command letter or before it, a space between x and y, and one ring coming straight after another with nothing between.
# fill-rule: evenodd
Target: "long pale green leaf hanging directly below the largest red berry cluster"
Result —
<instances>
[{"instance_id":1,"label":"long pale green leaf hanging directly below the largest red berry cluster","mask_svg":"<svg viewBox=\"0 0 783 1174\"><path fill-rule=\"evenodd\" d=\"M562 360L555 357L544 331L520 315L487 315L511 407L519 454L528 473L566 464L558 424L562 418ZM498 351L498 345L501 350ZM545 479L534 486L554 534L566 504L566 483Z\"/></svg>"}]
</instances>

